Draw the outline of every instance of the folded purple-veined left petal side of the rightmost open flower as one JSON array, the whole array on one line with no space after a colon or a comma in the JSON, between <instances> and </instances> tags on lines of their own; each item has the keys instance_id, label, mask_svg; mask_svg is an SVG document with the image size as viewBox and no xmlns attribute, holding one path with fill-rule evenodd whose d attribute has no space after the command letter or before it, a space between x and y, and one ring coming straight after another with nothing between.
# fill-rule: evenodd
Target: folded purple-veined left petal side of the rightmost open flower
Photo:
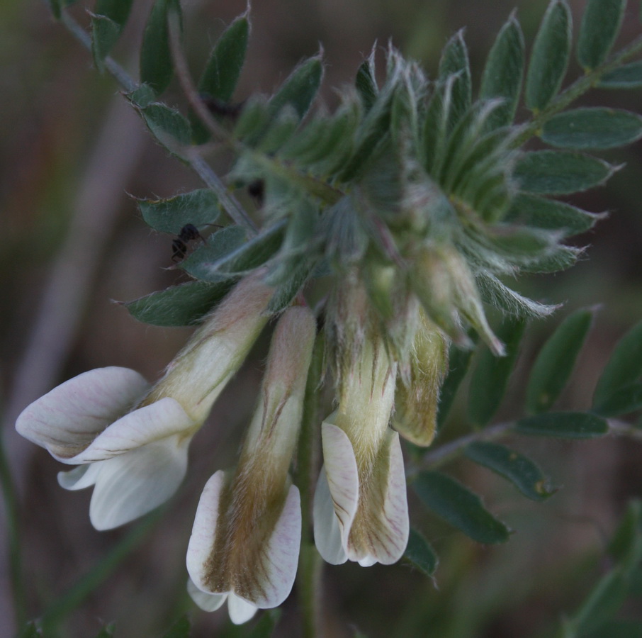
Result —
<instances>
[{"instance_id":1,"label":"folded purple-veined left petal side of the rightmost open flower","mask_svg":"<svg viewBox=\"0 0 642 638\"><path fill-rule=\"evenodd\" d=\"M328 421L323 422L321 440L325 476L332 499L334 516L337 519L342 547L347 551L350 530L359 506L359 470L357 469L352 444L347 434L340 427ZM321 499L322 495L320 496L320 503ZM326 518L328 513L329 511L326 513ZM321 510L320 515L322 516ZM323 523L322 520L323 518L319 522L315 520L315 542L318 530L320 544L317 543L317 549L323 556L320 549L320 545L324 547L323 534L330 532L332 524ZM336 554L334 556L334 559L338 557ZM328 557L332 558L332 552L328 553Z\"/></svg>"}]
</instances>

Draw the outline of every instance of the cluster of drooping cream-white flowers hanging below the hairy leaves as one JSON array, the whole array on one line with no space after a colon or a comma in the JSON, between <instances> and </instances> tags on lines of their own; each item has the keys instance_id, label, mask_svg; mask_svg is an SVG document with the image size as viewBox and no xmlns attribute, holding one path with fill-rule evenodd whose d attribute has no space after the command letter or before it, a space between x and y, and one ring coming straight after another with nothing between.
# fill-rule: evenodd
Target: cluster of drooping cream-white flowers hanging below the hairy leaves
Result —
<instances>
[{"instance_id":1,"label":"cluster of drooping cream-white flowers hanging below the hairy leaves","mask_svg":"<svg viewBox=\"0 0 642 638\"><path fill-rule=\"evenodd\" d=\"M130 369L95 369L54 388L20 415L21 435L77 466L59 474L62 487L94 486L89 516L97 530L149 512L179 487L188 444L264 328L273 292L261 272L242 279L153 386ZM416 387L432 388L428 394L404 392L407 384L400 383L383 339L363 327L349 328L362 324L362 318L350 317L359 296L345 298L351 301L342 309L348 317L341 340L351 343L340 349L337 410L321 426L324 466L314 498L315 543L331 564L392 564L402 556L409 531L399 434L390 427L395 393L396 429L403 433L412 422L408 437L429 442L439 366L416 366L410 374ZM437 361L444 344L436 349L426 334L417 330L422 336L413 352ZM188 591L205 610L227 600L235 623L249 620L257 608L280 605L295 579L301 510L288 472L315 335L315 318L304 305L278 318L238 464L210 478L196 510L187 549ZM417 384L417 374L432 383ZM405 415L412 405L428 423L424 432L412 414Z\"/></svg>"}]
</instances>

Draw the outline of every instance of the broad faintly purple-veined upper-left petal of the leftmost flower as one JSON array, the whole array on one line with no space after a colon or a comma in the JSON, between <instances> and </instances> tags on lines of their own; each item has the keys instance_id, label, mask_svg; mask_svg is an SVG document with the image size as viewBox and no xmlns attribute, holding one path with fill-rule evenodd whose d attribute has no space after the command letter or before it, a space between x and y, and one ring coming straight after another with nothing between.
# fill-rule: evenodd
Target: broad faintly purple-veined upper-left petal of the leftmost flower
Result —
<instances>
[{"instance_id":1,"label":"broad faintly purple-veined upper-left petal of the leftmost flower","mask_svg":"<svg viewBox=\"0 0 642 638\"><path fill-rule=\"evenodd\" d=\"M55 457L72 457L126 413L150 384L129 368L96 368L65 381L28 405L16 430Z\"/></svg>"}]
</instances>

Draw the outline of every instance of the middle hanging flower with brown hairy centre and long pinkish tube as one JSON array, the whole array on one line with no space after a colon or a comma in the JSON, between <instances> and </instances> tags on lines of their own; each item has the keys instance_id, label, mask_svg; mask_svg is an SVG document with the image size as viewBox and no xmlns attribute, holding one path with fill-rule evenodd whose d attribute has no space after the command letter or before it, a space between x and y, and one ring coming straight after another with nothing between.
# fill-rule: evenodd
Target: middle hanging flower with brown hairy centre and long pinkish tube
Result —
<instances>
[{"instance_id":1,"label":"middle hanging flower with brown hairy centre and long pinkish tube","mask_svg":"<svg viewBox=\"0 0 642 638\"><path fill-rule=\"evenodd\" d=\"M187 550L188 591L205 610L227 600L232 622L281 605L294 583L301 537L288 469L303 413L316 324L289 308L272 338L259 404L235 470L205 484Z\"/></svg>"}]
</instances>

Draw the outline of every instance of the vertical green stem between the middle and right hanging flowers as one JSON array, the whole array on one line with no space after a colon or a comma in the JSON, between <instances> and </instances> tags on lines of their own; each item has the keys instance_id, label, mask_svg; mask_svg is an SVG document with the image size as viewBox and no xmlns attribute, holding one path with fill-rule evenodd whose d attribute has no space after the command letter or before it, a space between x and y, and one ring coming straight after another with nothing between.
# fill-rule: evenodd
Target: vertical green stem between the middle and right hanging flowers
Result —
<instances>
[{"instance_id":1,"label":"vertical green stem between the middle and right hanging flowers","mask_svg":"<svg viewBox=\"0 0 642 638\"><path fill-rule=\"evenodd\" d=\"M303 425L298 442L296 484L301 496L301 549L297 572L299 608L302 615L303 638L315 638L319 631L320 556L312 542L312 495L316 476L319 386L322 378L323 339L317 337L308 371L303 404Z\"/></svg>"}]
</instances>

